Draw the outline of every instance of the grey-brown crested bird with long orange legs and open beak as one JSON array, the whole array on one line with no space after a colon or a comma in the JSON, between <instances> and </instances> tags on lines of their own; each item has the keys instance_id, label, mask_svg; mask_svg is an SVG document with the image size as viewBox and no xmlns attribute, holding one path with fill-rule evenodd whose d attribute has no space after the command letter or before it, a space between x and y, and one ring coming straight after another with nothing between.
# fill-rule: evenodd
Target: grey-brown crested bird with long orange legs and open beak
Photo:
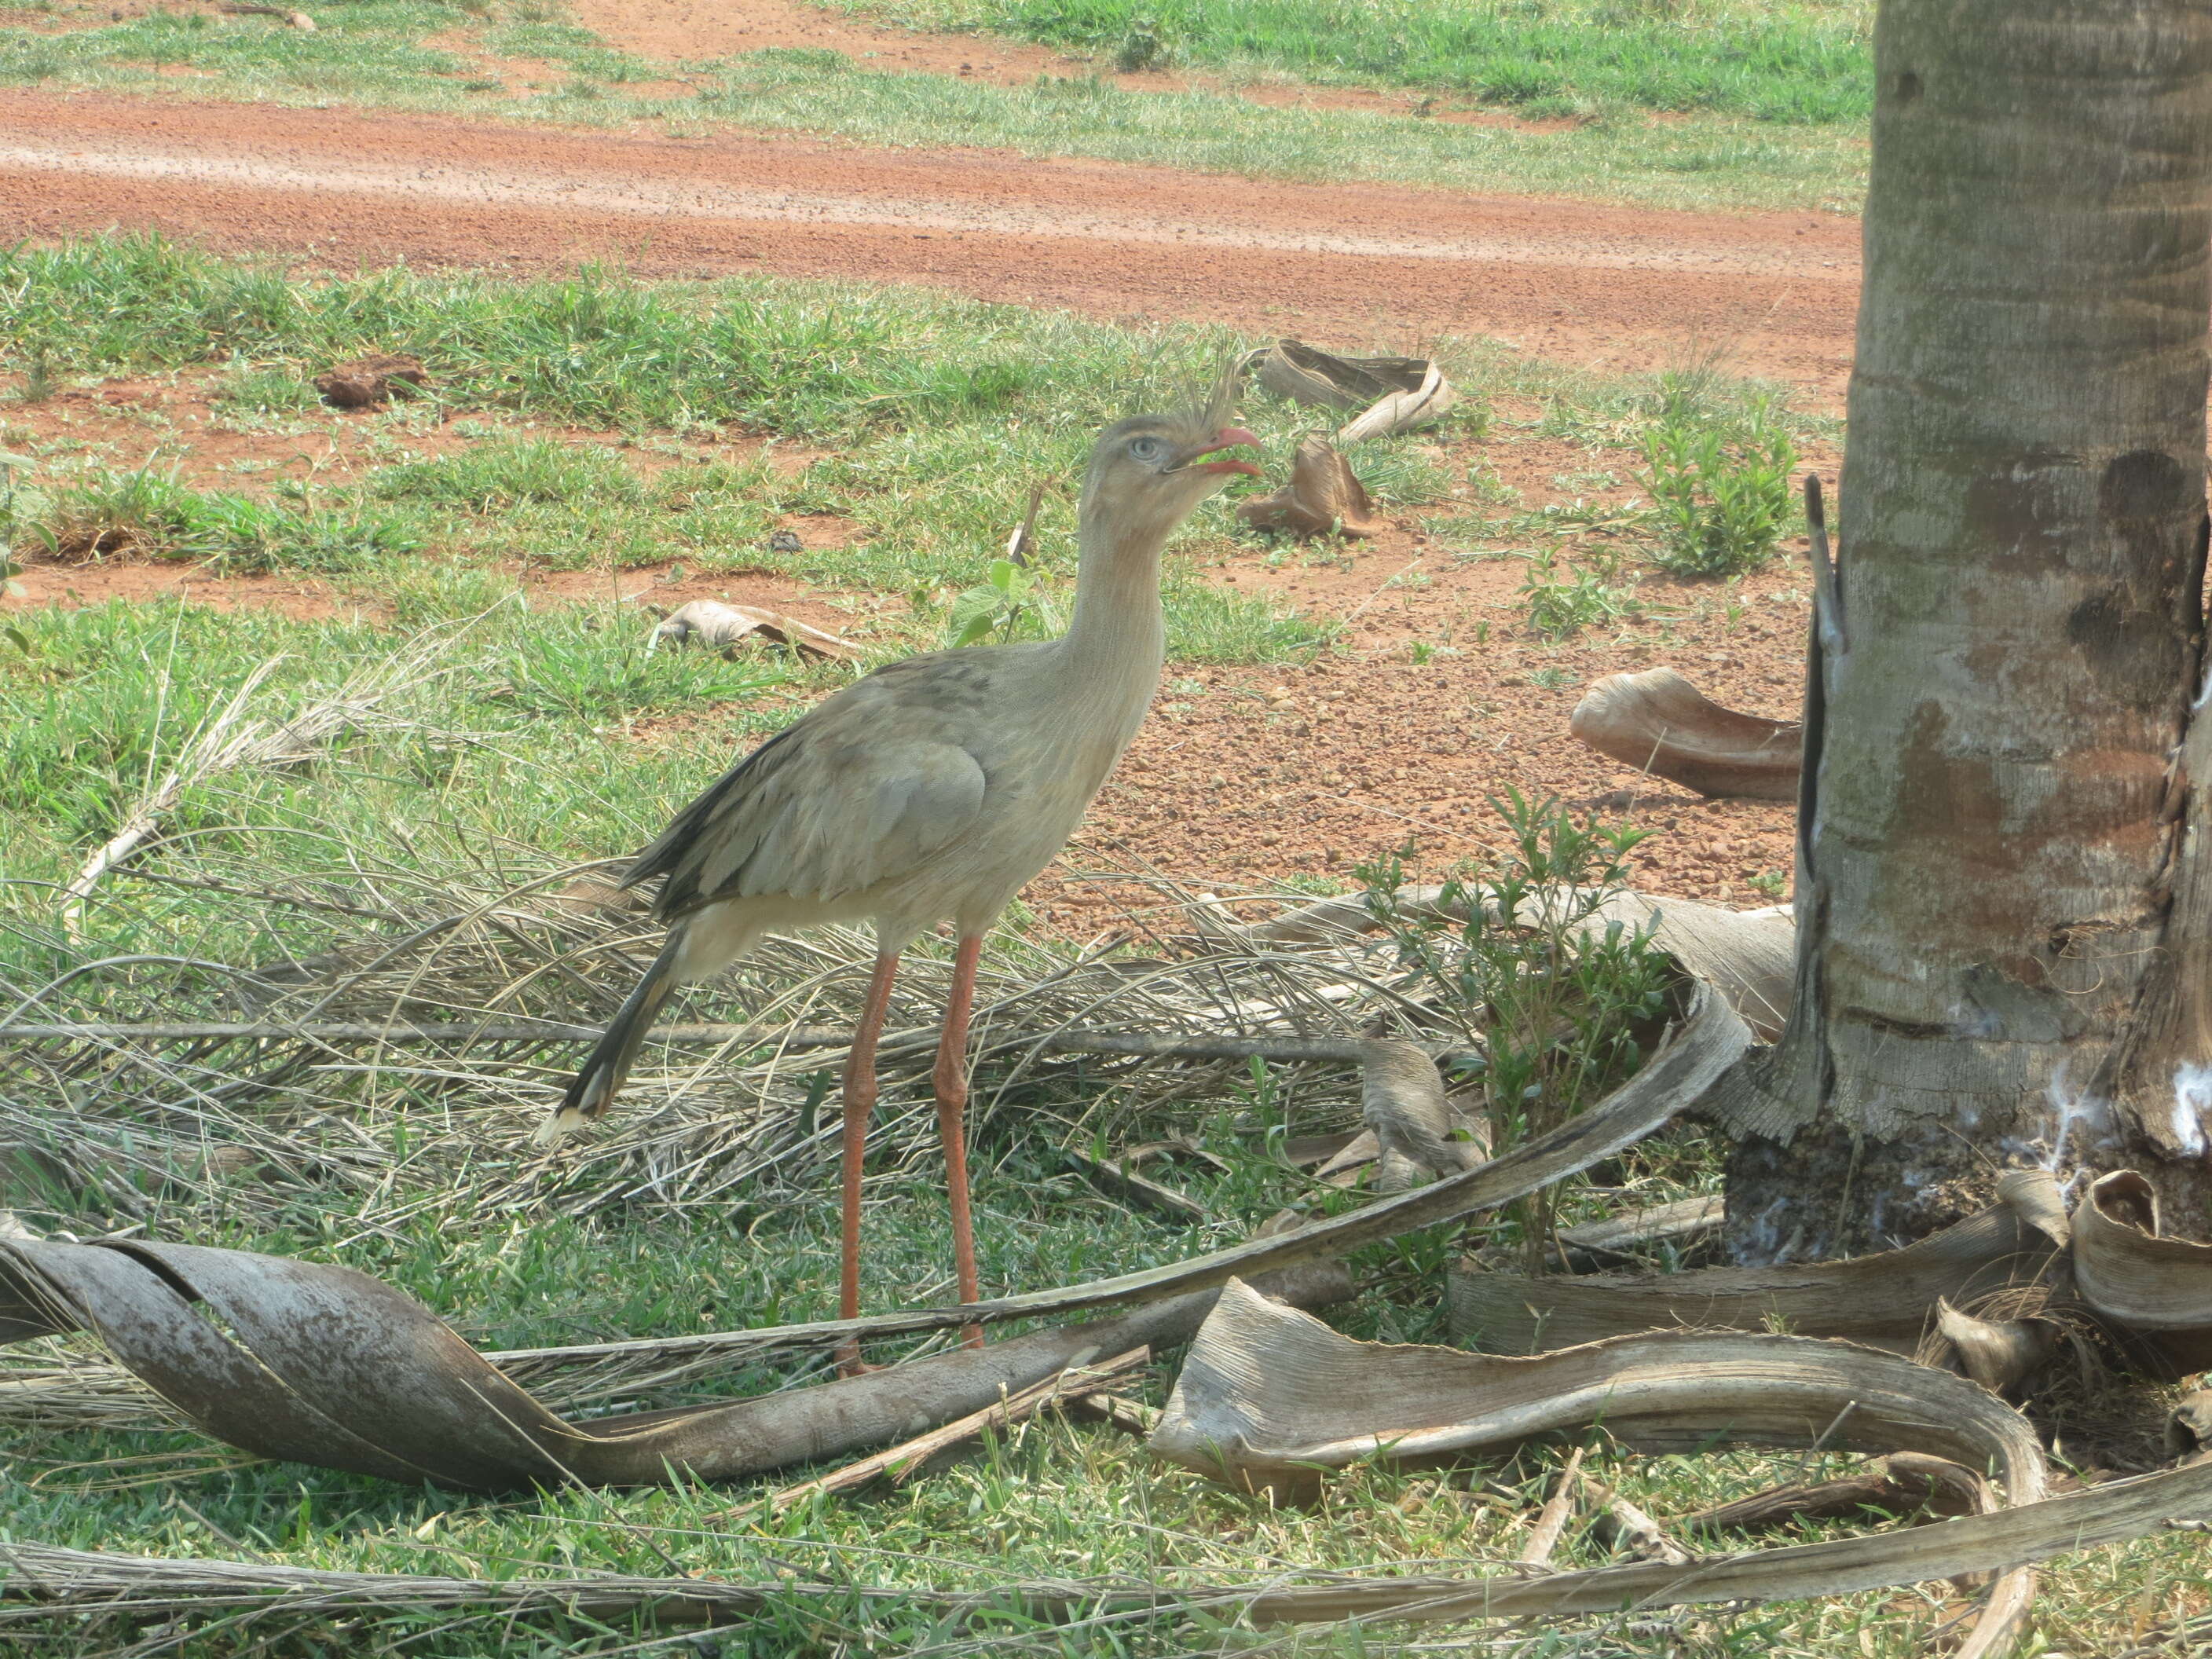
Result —
<instances>
[{"instance_id":1,"label":"grey-brown crested bird with long orange legs and open beak","mask_svg":"<svg viewBox=\"0 0 2212 1659\"><path fill-rule=\"evenodd\" d=\"M668 936L540 1133L602 1117L668 995L719 973L765 933L872 922L876 960L843 1071L841 1318L860 1314L860 1164L876 1104L876 1040L905 949L956 936L931 1091L951 1190L960 1301L978 1301L967 1175L967 1026L984 933L1082 823L1159 688L1159 557L1175 529L1256 449L1228 425L1234 374L1177 414L1106 427L1077 507L1075 608L1046 641L936 650L887 664L770 737L684 807L628 865L659 878ZM973 1325L971 1345L982 1343ZM858 1345L838 1352L858 1374Z\"/></svg>"}]
</instances>

